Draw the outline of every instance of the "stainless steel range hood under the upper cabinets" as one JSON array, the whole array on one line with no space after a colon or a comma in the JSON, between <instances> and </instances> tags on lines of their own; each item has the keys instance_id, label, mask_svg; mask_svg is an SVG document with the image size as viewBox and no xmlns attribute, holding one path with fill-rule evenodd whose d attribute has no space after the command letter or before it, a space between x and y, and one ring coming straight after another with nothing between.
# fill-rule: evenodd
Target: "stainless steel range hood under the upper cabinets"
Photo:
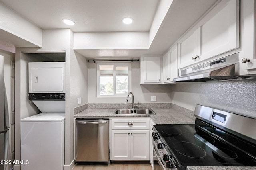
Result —
<instances>
[{"instance_id":1,"label":"stainless steel range hood under the upper cabinets","mask_svg":"<svg viewBox=\"0 0 256 170\"><path fill-rule=\"evenodd\" d=\"M256 78L239 76L239 53L180 70L180 77L174 82L206 82Z\"/></svg>"}]
</instances>

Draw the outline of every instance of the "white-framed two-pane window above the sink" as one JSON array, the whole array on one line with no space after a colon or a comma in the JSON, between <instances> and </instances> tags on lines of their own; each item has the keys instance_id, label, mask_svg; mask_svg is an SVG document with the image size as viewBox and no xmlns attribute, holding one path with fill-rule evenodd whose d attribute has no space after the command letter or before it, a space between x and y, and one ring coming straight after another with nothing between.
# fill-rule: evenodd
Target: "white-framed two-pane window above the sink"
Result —
<instances>
[{"instance_id":1,"label":"white-framed two-pane window above the sink","mask_svg":"<svg viewBox=\"0 0 256 170\"><path fill-rule=\"evenodd\" d=\"M123 97L131 91L131 63L97 63L97 96Z\"/></svg>"}]
</instances>

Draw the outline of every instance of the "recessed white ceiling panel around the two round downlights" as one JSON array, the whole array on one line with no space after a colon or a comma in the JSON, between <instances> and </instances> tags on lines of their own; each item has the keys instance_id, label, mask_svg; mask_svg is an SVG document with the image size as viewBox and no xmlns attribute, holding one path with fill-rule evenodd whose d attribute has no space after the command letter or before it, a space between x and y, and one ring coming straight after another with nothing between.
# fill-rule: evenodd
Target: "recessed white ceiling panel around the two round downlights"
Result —
<instances>
[{"instance_id":1,"label":"recessed white ceiling panel around the two round downlights","mask_svg":"<svg viewBox=\"0 0 256 170\"><path fill-rule=\"evenodd\" d=\"M159 0L1 0L42 29L69 28L74 32L149 31ZM134 19L124 25L122 18Z\"/></svg>"}]
</instances>

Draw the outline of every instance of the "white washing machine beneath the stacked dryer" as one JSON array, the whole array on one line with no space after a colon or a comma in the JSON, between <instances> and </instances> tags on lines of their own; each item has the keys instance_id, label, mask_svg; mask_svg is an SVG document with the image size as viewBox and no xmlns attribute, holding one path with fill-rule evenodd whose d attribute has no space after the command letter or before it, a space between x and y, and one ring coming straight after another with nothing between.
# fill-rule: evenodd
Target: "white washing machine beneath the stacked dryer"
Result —
<instances>
[{"instance_id":1,"label":"white washing machine beneath the stacked dryer","mask_svg":"<svg viewBox=\"0 0 256 170\"><path fill-rule=\"evenodd\" d=\"M20 120L21 170L63 170L65 113Z\"/></svg>"}]
</instances>

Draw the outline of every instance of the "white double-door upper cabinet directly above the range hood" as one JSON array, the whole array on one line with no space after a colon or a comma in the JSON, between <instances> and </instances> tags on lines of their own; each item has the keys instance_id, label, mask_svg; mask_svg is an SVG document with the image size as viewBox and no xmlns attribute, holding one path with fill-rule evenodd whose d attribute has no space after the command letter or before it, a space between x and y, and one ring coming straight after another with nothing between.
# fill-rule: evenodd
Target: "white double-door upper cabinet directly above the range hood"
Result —
<instances>
[{"instance_id":1,"label":"white double-door upper cabinet directly above the range hood","mask_svg":"<svg viewBox=\"0 0 256 170\"><path fill-rule=\"evenodd\" d=\"M179 43L179 68L239 47L239 1L222 0Z\"/></svg>"}]
</instances>

